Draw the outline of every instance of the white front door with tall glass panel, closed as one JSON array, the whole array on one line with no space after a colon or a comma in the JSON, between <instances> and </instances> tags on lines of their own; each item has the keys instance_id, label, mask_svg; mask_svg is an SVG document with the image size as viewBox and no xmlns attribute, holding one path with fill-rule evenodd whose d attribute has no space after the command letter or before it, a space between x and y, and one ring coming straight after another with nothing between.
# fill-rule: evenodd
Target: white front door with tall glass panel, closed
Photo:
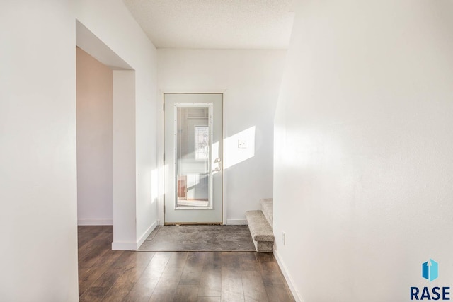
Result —
<instances>
[{"instance_id":1,"label":"white front door with tall glass panel, closed","mask_svg":"<svg viewBox=\"0 0 453 302\"><path fill-rule=\"evenodd\" d=\"M165 93L165 223L222 223L222 93Z\"/></svg>"}]
</instances>

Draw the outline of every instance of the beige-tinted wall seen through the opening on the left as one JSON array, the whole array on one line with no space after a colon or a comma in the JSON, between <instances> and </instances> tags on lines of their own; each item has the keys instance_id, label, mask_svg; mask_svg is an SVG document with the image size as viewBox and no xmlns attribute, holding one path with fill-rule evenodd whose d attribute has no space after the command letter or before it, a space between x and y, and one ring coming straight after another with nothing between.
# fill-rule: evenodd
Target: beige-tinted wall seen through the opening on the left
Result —
<instances>
[{"instance_id":1,"label":"beige-tinted wall seen through the opening on the left","mask_svg":"<svg viewBox=\"0 0 453 302\"><path fill-rule=\"evenodd\" d=\"M113 224L113 72L76 49L77 221Z\"/></svg>"}]
</instances>

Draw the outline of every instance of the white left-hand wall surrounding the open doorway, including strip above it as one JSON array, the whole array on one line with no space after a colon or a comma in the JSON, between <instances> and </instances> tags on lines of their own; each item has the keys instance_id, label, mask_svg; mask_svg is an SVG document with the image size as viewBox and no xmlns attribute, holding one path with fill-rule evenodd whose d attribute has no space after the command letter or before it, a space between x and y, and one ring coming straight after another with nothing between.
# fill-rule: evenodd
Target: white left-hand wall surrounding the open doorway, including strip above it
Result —
<instances>
[{"instance_id":1,"label":"white left-hand wall surrounding the open doorway, including strip above it","mask_svg":"<svg viewBox=\"0 0 453 302\"><path fill-rule=\"evenodd\" d=\"M154 46L120 0L1 1L2 301L78 301L76 18L136 71L139 173L127 206L139 214L128 243L156 221Z\"/></svg>"}]
</instances>

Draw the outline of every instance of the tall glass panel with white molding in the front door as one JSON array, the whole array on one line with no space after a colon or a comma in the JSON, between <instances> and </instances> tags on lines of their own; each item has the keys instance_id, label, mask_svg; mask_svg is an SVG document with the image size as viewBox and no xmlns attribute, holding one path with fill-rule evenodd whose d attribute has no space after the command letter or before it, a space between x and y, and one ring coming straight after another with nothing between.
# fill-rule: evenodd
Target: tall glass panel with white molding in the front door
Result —
<instances>
[{"instance_id":1,"label":"tall glass panel with white molding in the front door","mask_svg":"<svg viewBox=\"0 0 453 302\"><path fill-rule=\"evenodd\" d=\"M176 103L175 209L212 209L212 105Z\"/></svg>"}]
</instances>

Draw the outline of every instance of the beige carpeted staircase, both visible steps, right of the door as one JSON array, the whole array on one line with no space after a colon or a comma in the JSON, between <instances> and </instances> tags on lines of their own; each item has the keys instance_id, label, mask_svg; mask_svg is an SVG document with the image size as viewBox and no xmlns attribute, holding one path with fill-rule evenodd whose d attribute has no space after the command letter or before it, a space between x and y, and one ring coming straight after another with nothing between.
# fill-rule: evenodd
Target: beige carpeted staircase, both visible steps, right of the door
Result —
<instances>
[{"instance_id":1,"label":"beige carpeted staircase, both visible steps, right of the door","mask_svg":"<svg viewBox=\"0 0 453 302\"><path fill-rule=\"evenodd\" d=\"M261 211L246 211L248 228L257 252L272 252L273 233L273 199L260 200Z\"/></svg>"}]
</instances>

